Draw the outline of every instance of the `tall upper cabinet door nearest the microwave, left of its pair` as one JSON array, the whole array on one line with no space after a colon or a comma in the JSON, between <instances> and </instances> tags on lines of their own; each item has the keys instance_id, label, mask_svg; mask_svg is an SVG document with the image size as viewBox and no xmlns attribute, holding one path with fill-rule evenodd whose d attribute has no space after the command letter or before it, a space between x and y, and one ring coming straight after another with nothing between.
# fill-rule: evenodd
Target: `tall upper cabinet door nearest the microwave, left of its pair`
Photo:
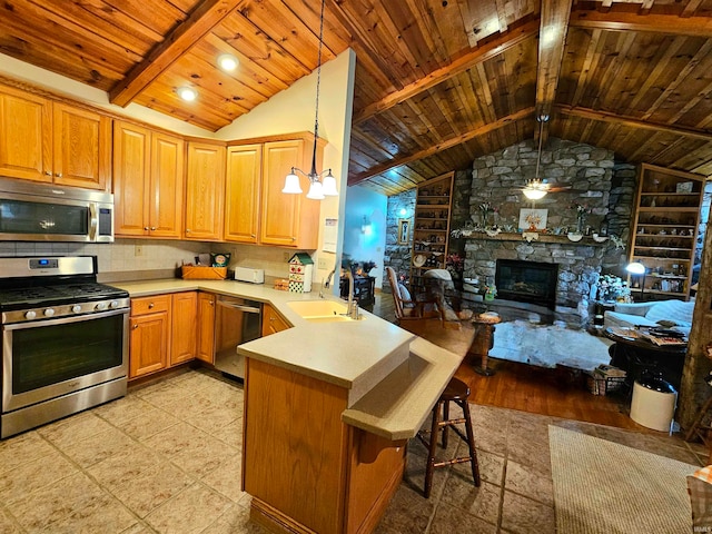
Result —
<instances>
[{"instance_id":1,"label":"tall upper cabinet door nearest the microwave, left of its pair","mask_svg":"<svg viewBox=\"0 0 712 534\"><path fill-rule=\"evenodd\" d=\"M150 131L113 125L113 202L117 236L148 235Z\"/></svg>"}]
</instances>

